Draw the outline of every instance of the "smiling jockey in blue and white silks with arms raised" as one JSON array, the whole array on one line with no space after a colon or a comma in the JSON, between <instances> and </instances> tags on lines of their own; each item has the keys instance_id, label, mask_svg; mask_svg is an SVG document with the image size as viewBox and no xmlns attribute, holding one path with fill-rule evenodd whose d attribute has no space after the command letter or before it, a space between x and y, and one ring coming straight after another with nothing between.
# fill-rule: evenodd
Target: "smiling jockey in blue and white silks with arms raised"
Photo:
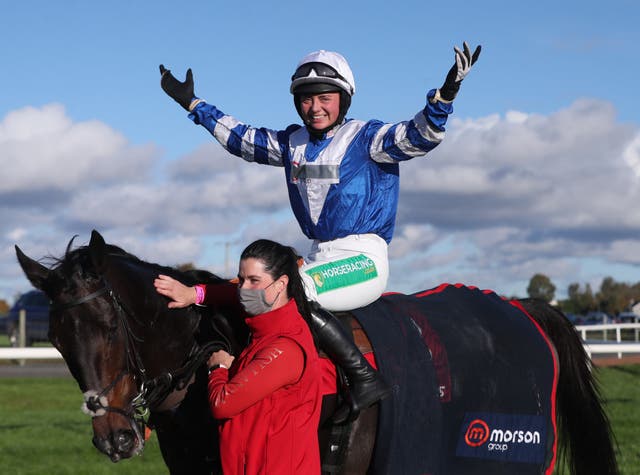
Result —
<instances>
[{"instance_id":1,"label":"smiling jockey in blue and white silks with arms raised","mask_svg":"<svg viewBox=\"0 0 640 475\"><path fill-rule=\"evenodd\" d=\"M337 421L357 417L391 392L331 312L368 305L385 289L387 246L398 204L398 165L425 155L442 141L452 101L478 59L480 46L472 54L465 42L463 49L454 51L455 64L442 87L428 92L425 107L413 119L397 124L347 119L355 93L349 64L335 52L310 53L298 64L290 85L304 126L293 124L279 131L251 127L196 97L191 69L182 82L160 65L162 89L228 152L284 168L294 215L313 240L300 269L307 295L317 303L312 330L349 383L349 405L338 411ZM173 283L165 284L165 295L171 296ZM196 286L189 295L191 303L215 303L230 293L209 285Z\"/></svg>"}]
</instances>

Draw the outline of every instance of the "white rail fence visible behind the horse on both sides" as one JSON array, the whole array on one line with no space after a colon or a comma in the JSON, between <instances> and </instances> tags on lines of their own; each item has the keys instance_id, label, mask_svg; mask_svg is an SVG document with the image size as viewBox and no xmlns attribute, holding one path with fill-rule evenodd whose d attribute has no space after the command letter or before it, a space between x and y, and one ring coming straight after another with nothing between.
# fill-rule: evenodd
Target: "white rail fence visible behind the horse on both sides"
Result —
<instances>
[{"instance_id":1,"label":"white rail fence visible behind the horse on both sides","mask_svg":"<svg viewBox=\"0 0 640 475\"><path fill-rule=\"evenodd\" d=\"M584 347L589 355L640 355L640 323L611 323L604 325L579 325L576 330L580 333ZM627 330L627 332L623 332ZM601 335L599 340L589 340L587 337L596 333ZM623 339L623 334L625 339ZM632 340L626 339L632 335ZM615 335L614 339L609 336ZM0 348L0 360L61 360L62 355L53 347L36 348Z\"/></svg>"}]
</instances>

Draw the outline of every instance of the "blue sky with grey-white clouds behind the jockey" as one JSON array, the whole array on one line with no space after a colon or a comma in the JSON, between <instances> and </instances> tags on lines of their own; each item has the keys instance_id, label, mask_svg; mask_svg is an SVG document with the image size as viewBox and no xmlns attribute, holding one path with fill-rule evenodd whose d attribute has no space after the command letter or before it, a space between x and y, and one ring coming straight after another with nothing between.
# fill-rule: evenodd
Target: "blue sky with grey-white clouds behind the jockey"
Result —
<instances>
[{"instance_id":1,"label":"blue sky with grey-white clouds behind the jockey","mask_svg":"<svg viewBox=\"0 0 640 475\"><path fill-rule=\"evenodd\" d=\"M348 116L406 120L482 44L443 144L401 168L389 290L464 282L524 295L548 275L640 280L636 1L30 1L0 15L0 298L13 246L63 253L91 229L141 258L234 274L257 237L308 242L282 171L229 156L159 87L158 65L239 120L298 118L297 61L341 52Z\"/></svg>"}]
</instances>

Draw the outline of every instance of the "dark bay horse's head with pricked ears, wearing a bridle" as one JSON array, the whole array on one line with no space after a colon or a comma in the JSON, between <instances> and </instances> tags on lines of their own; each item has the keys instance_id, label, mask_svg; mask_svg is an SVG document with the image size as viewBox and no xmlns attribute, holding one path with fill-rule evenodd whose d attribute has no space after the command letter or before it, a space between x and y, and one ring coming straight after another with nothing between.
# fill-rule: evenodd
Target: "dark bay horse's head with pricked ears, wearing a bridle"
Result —
<instances>
[{"instance_id":1,"label":"dark bay horse's head with pricked ears, wearing a bridle","mask_svg":"<svg viewBox=\"0 0 640 475\"><path fill-rule=\"evenodd\" d=\"M49 339L82 390L94 445L115 462L142 450L142 413L170 399L174 378L193 375L185 360L196 348L199 314L169 310L153 288L160 272L180 279L175 270L140 261L97 231L88 246L71 250L72 243L51 268L17 246L16 254L30 282L51 299Z\"/></svg>"}]
</instances>

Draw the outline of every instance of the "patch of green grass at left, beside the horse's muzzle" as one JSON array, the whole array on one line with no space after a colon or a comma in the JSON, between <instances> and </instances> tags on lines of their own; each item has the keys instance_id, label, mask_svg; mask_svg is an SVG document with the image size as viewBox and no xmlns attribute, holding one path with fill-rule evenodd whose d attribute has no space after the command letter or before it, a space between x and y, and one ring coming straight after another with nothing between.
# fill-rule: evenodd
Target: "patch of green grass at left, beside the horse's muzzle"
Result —
<instances>
[{"instance_id":1,"label":"patch of green grass at left, beside the horse's muzzle","mask_svg":"<svg viewBox=\"0 0 640 475\"><path fill-rule=\"evenodd\" d=\"M15 475L163 474L155 435L141 456L112 463L91 443L91 420L70 378L0 379L0 467Z\"/></svg>"}]
</instances>

